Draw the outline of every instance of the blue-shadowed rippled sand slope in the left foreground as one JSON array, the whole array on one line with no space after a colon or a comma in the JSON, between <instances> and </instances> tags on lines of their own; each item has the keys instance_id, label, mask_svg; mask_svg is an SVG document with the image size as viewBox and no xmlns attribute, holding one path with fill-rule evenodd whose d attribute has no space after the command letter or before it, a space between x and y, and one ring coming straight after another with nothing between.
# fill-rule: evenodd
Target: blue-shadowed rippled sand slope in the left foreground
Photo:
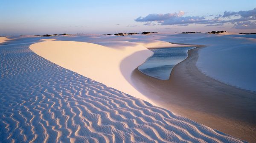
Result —
<instances>
[{"instance_id":1,"label":"blue-shadowed rippled sand slope in the left foreground","mask_svg":"<svg viewBox=\"0 0 256 143\"><path fill-rule=\"evenodd\" d=\"M0 143L241 142L64 69L29 44L0 45L0 55Z\"/></svg>"}]
</instances>

